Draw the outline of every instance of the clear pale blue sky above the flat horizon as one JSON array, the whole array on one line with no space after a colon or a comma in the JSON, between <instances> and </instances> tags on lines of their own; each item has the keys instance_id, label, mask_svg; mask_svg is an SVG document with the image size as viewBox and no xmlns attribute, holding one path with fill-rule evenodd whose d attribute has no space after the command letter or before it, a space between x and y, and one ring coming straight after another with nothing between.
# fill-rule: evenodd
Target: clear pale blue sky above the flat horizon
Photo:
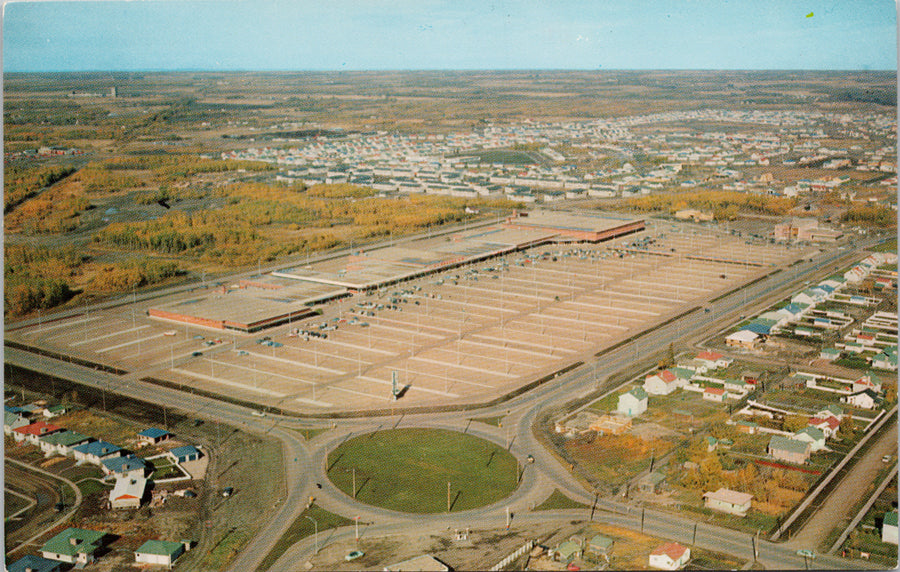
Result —
<instances>
[{"instance_id":1,"label":"clear pale blue sky above the flat horizon","mask_svg":"<svg viewBox=\"0 0 900 572\"><path fill-rule=\"evenodd\" d=\"M892 0L8 2L3 70L896 70Z\"/></svg>"}]
</instances>

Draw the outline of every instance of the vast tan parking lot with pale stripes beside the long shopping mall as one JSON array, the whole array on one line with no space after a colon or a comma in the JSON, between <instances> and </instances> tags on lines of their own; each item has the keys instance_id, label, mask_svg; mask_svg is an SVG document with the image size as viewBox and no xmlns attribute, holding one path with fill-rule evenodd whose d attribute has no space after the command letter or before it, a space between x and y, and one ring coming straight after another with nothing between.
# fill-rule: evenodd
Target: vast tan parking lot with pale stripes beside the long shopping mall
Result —
<instances>
[{"instance_id":1,"label":"vast tan parking lot with pale stripes beside the long shopping mall","mask_svg":"<svg viewBox=\"0 0 900 572\"><path fill-rule=\"evenodd\" d=\"M420 248L445 243L424 239ZM624 240L537 246L326 302L321 316L255 335L148 319L147 309L161 303L154 301L40 322L9 337L285 410L464 404L552 374L803 255L651 221ZM352 261L343 264L314 269L339 273ZM201 291L232 303L227 293ZM325 321L327 339L289 335ZM277 343L258 343L265 336ZM392 402L395 372L402 391Z\"/></svg>"}]
</instances>

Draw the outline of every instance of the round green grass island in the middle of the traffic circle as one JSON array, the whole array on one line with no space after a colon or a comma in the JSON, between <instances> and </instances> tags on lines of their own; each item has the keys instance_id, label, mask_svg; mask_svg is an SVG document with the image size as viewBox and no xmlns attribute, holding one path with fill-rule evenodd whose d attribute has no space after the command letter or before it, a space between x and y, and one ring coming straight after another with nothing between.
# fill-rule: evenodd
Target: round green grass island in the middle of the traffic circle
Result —
<instances>
[{"instance_id":1,"label":"round green grass island in the middle of the traffic circle","mask_svg":"<svg viewBox=\"0 0 900 572\"><path fill-rule=\"evenodd\" d=\"M440 429L396 429L351 439L328 456L328 476L364 503L412 513L468 510L518 485L515 457L477 437Z\"/></svg>"}]
</instances>

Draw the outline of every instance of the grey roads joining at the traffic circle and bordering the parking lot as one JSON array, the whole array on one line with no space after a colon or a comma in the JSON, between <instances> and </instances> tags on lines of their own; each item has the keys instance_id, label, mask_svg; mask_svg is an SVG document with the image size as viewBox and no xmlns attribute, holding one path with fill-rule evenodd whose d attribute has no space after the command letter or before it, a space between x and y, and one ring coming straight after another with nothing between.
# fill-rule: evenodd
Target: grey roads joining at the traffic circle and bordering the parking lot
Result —
<instances>
[{"instance_id":1,"label":"grey roads joining at the traffic circle and bordering the parking lot","mask_svg":"<svg viewBox=\"0 0 900 572\"><path fill-rule=\"evenodd\" d=\"M309 443L304 442L300 434L293 429L315 426L316 422L274 416L259 418L252 415L252 410L237 405L194 394L185 394L135 379L122 379L14 348L6 348L6 361L86 385L103 387L107 391L124 393L150 403L165 404L169 407L177 403L179 409L188 411L192 415L197 415L199 412L201 416L251 432L266 433L279 439L284 448L285 482L288 483L287 497L285 502L274 509L262 529L228 568L235 572L243 572L257 568L275 542L300 515L306 499L310 495L315 495L317 504L327 510L345 516L361 516L362 520L374 523L370 525L369 530L378 534L390 530L420 532L423 527L444 529L447 526L465 527L467 523L473 522L482 523L482 526L500 527L505 524L506 507L510 507L510 510L517 515L516 519L520 519L517 522L528 522L528 519L546 521L556 517L571 519L573 514L584 518L585 511L576 511L576 513L567 511L558 515L553 512L539 514L529 512L531 506L545 500L553 489L559 489L566 496L586 504L594 501L593 493L586 490L582 483L537 441L532 432L532 426L542 411L558 406L574 397L597 390L610 389L613 385L610 378L614 374L629 371L642 360L652 359L652 356L664 352L670 343L683 338L696 337L697 332L717 331L718 328L735 321L739 313L750 314L756 308L766 307L772 301L780 299L786 293L796 289L804 280L834 272L851 256L855 256L855 253L850 251L820 253L813 260L805 260L799 264L784 267L779 272L770 274L756 283L709 302L705 306L708 311L697 308L670 323L649 330L627 343L603 352L597 360L593 359L593 353L579 356L579 359L586 361L587 365L560 375L557 379L503 404L467 412L335 420L336 426L333 430L322 433ZM491 415L506 415L504 419L506 427L500 429L480 423L469 424L466 422L466 419L470 417ZM325 459L329 450L350 435L393 426L398 422L401 427L442 427L460 431L467 430L470 434L504 446L506 445L506 431L511 431L510 452L525 466L519 488L508 499L488 507L451 515L423 516L397 513L364 505L331 485L325 476ZM529 454L535 457L533 464L525 463L525 457ZM316 489L315 483L320 483L322 489ZM612 524L640 529L643 516L644 531L649 534L682 542L695 540L694 535L696 534L697 546L713 548L740 558L752 558L753 556L753 541L746 533L705 523L696 523L687 518L652 510L639 512L639 509L635 507L610 499L603 499L600 502L599 506L604 509L602 518ZM334 534L348 533L337 531ZM767 566L803 568L806 565L803 558L796 555L795 549L788 545L759 541L758 546L759 560ZM295 552L302 553L304 547L309 547L309 539L292 548L279 561L278 566L284 566L283 561L286 559L291 562L303 561L291 560L288 555L294 555ZM858 568L860 566L857 562L850 563L833 557L821 557L816 560L815 564L817 567L834 568Z\"/></svg>"}]
</instances>

